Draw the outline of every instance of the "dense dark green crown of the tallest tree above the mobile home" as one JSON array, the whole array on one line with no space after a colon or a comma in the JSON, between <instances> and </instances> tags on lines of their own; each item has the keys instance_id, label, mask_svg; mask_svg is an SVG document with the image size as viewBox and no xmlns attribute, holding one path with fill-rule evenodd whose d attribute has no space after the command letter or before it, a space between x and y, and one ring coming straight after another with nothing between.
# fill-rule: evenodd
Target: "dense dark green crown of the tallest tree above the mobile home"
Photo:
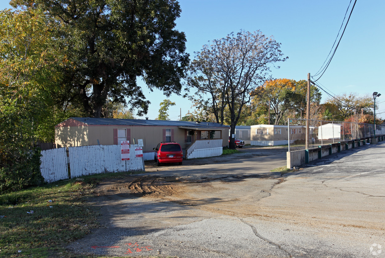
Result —
<instances>
[{"instance_id":1,"label":"dense dark green crown of the tallest tree above the mobile home","mask_svg":"<svg viewBox=\"0 0 385 258\"><path fill-rule=\"evenodd\" d=\"M185 35L175 30L181 9L176 0L13 0L12 5L41 9L57 23L55 46L68 62L62 69L62 101L81 104L100 117L107 96L146 114L137 78L168 97L181 91L188 64Z\"/></svg>"}]
</instances>

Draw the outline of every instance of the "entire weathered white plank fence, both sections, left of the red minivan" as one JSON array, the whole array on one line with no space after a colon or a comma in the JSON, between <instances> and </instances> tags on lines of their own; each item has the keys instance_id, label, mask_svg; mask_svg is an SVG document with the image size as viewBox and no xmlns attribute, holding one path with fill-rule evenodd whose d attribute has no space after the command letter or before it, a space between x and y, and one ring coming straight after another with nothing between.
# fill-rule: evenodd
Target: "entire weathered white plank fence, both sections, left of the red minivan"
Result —
<instances>
[{"instance_id":1,"label":"entire weathered white plank fence, both sections, left of the red minivan","mask_svg":"<svg viewBox=\"0 0 385 258\"><path fill-rule=\"evenodd\" d=\"M135 147L130 146L130 160L121 160L120 145L93 145L69 147L70 177L144 170L141 157L135 157ZM68 179L65 148L42 151L40 172L45 181Z\"/></svg>"}]
</instances>

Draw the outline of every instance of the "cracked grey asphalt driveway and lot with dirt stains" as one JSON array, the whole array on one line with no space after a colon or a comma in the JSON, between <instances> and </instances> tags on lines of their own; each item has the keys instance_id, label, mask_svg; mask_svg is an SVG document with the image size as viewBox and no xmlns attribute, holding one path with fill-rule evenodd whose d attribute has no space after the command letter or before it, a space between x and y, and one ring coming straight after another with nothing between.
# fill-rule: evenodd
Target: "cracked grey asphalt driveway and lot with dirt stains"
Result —
<instances>
[{"instance_id":1,"label":"cracked grey asphalt driveway and lot with dirt stains","mask_svg":"<svg viewBox=\"0 0 385 258\"><path fill-rule=\"evenodd\" d=\"M105 227L69 248L128 257L384 256L385 143L269 172L286 164L285 151L105 182L95 200ZM150 190L127 187L149 177L157 179Z\"/></svg>"}]
</instances>

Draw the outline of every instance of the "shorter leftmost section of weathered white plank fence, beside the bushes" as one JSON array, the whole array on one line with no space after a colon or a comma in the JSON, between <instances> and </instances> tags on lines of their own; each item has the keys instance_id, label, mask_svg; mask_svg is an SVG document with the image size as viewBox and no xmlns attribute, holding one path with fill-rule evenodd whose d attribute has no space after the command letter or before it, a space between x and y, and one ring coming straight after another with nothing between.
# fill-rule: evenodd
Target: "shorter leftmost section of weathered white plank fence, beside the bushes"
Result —
<instances>
[{"instance_id":1,"label":"shorter leftmost section of weathered white plank fence, beside the bushes","mask_svg":"<svg viewBox=\"0 0 385 258\"><path fill-rule=\"evenodd\" d=\"M65 148L41 152L40 172L48 183L68 179L67 154Z\"/></svg>"}]
</instances>

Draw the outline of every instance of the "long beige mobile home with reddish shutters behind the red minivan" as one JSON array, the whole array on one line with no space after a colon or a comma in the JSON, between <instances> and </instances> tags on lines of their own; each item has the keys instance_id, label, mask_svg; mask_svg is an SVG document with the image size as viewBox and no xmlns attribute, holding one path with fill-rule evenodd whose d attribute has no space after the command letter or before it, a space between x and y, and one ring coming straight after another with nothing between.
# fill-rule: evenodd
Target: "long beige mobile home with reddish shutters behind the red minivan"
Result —
<instances>
[{"instance_id":1,"label":"long beige mobile home with reddish shutters behind the red minivan","mask_svg":"<svg viewBox=\"0 0 385 258\"><path fill-rule=\"evenodd\" d=\"M178 142L185 149L197 140L209 139L210 132L215 131L214 139L222 139L223 145L228 146L229 128L213 122L70 117L55 126L55 144L56 147L116 145L142 139L143 152L147 153L166 141Z\"/></svg>"}]
</instances>

